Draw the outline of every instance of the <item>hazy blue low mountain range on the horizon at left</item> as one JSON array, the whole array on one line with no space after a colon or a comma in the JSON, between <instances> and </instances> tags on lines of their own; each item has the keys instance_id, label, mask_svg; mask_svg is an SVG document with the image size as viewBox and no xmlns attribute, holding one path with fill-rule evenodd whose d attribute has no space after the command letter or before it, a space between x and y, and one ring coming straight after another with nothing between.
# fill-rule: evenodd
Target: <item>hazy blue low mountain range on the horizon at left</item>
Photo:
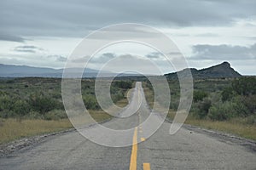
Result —
<instances>
[{"instance_id":1,"label":"hazy blue low mountain range on the horizon at left","mask_svg":"<svg viewBox=\"0 0 256 170\"><path fill-rule=\"evenodd\" d=\"M0 77L62 77L63 69L0 64ZM75 69L70 69L75 75ZM86 68L83 77L96 77L98 71ZM107 72L106 72L107 74Z\"/></svg>"}]
</instances>

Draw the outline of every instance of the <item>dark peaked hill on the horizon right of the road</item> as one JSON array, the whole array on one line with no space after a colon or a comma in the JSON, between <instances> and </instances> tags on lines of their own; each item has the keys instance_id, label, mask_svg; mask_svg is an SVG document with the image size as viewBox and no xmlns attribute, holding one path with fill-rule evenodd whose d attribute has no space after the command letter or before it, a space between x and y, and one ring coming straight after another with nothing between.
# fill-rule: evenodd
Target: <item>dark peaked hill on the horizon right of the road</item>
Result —
<instances>
[{"instance_id":1,"label":"dark peaked hill on the horizon right of the road","mask_svg":"<svg viewBox=\"0 0 256 170\"><path fill-rule=\"evenodd\" d=\"M180 73L187 71L184 69L183 71L178 71ZM223 62L219 65L214 65L206 69L197 70L195 68L190 69L193 78L195 79L203 79L203 78L234 78L241 77L237 71L231 68L230 63ZM177 72L169 73L165 75L167 78L176 79Z\"/></svg>"}]
</instances>

